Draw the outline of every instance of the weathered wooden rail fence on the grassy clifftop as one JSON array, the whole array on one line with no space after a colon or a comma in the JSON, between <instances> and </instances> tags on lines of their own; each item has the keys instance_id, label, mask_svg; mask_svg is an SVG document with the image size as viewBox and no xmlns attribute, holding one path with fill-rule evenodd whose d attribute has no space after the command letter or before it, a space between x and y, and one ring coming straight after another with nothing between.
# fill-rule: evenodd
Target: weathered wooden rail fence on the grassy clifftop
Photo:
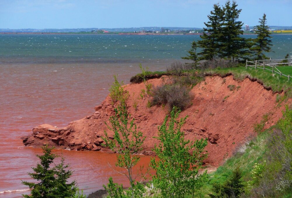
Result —
<instances>
[{"instance_id":1,"label":"weathered wooden rail fence on the grassy clifftop","mask_svg":"<svg viewBox=\"0 0 292 198\"><path fill-rule=\"evenodd\" d=\"M291 60L291 62L277 62L279 60ZM289 59L277 59L277 60L272 60L267 59L267 60L253 60L253 61L248 61L246 60L246 69L247 67L253 67L255 69L262 69L262 70L269 70L272 72L272 74L279 74L280 77L285 76L288 77L288 81L290 80L290 75L285 75L283 74L280 70L278 70L278 68L276 67L281 66L281 65L291 65L292 66L292 56ZM272 62L276 62L276 63L272 63ZM249 63L251 63L251 65L248 65ZM291 68L292 69L292 68Z\"/></svg>"}]
</instances>

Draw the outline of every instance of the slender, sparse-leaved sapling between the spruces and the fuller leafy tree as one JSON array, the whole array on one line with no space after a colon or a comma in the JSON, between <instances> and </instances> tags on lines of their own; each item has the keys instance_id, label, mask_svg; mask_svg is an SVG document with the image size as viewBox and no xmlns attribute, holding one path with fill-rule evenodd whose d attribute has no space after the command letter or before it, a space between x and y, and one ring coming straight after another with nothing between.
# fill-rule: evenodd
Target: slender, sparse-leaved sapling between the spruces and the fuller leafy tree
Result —
<instances>
[{"instance_id":1,"label":"slender, sparse-leaved sapling between the spruces and the fuller leafy tree","mask_svg":"<svg viewBox=\"0 0 292 198\"><path fill-rule=\"evenodd\" d=\"M105 137L102 138L105 141L104 146L119 154L115 166L126 171L115 171L126 176L130 182L131 187L129 191L126 191L126 194L129 194L130 197L141 197L142 193L145 192L145 187L135 181L137 176L133 174L133 167L140 160L140 157L135 154L142 150L142 144L146 137L143 137L141 131L137 131L134 119L129 122L131 115L128 114L125 105L119 106L114 111L114 116L109 119L110 125L106 123L109 130L114 132L114 138L110 139L105 131Z\"/></svg>"}]
</instances>

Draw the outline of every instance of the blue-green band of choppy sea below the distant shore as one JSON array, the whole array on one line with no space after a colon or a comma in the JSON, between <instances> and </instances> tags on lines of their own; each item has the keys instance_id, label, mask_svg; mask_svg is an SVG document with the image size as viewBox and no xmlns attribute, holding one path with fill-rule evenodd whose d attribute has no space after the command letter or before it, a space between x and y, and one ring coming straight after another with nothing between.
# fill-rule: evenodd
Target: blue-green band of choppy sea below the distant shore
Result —
<instances>
[{"instance_id":1,"label":"blue-green band of choppy sea below the distant shore","mask_svg":"<svg viewBox=\"0 0 292 198\"><path fill-rule=\"evenodd\" d=\"M255 38L256 35L243 35ZM180 59L199 35L1 34L0 63L137 62ZM292 55L292 34L272 35L272 59Z\"/></svg>"}]
</instances>

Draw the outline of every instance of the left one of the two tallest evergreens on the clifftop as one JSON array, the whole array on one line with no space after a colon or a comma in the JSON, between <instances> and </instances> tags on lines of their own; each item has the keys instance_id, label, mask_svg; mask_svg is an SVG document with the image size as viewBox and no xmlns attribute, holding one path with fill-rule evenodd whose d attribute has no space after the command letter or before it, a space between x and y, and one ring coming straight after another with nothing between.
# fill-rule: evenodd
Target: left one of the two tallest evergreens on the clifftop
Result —
<instances>
[{"instance_id":1,"label":"left one of the two tallest evergreens on the clifftop","mask_svg":"<svg viewBox=\"0 0 292 198\"><path fill-rule=\"evenodd\" d=\"M219 4L214 4L213 8L211 14L208 15L209 21L204 22L206 28L204 28L203 35L200 36L202 40L198 41L199 47L202 48L202 51L198 53L200 60L212 60L218 58L218 53L221 54L220 42L223 36L224 11Z\"/></svg>"}]
</instances>

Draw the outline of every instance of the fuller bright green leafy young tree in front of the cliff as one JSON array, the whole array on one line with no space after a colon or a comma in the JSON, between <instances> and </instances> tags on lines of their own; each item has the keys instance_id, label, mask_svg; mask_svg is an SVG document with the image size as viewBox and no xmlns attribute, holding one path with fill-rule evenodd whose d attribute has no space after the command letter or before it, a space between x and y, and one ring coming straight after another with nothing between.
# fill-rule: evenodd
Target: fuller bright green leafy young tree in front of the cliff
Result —
<instances>
[{"instance_id":1,"label":"fuller bright green leafy young tree in front of the cliff","mask_svg":"<svg viewBox=\"0 0 292 198\"><path fill-rule=\"evenodd\" d=\"M202 168L202 160L207 157L204 148L207 139L190 142L184 139L181 127L187 116L178 119L180 110L171 111L169 123L168 116L158 128L159 145L155 145L154 152L159 160L151 159L151 167L156 171L153 184L161 190L163 197L184 197L187 193L194 196L194 188L199 186L198 169Z\"/></svg>"}]
</instances>

